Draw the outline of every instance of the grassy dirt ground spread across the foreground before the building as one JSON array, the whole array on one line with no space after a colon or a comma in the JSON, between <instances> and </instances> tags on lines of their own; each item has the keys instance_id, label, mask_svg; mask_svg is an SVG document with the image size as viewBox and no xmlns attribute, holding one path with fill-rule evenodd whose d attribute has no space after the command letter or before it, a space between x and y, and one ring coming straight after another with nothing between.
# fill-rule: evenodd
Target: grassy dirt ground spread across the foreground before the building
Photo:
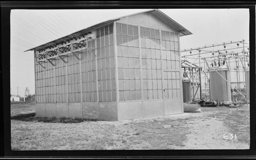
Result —
<instances>
[{"instance_id":1,"label":"grassy dirt ground spread across the foreground before the building","mask_svg":"<svg viewBox=\"0 0 256 160\"><path fill-rule=\"evenodd\" d=\"M249 106L200 108L202 112L121 122L15 119L11 146L13 150L249 149Z\"/></svg>"}]
</instances>

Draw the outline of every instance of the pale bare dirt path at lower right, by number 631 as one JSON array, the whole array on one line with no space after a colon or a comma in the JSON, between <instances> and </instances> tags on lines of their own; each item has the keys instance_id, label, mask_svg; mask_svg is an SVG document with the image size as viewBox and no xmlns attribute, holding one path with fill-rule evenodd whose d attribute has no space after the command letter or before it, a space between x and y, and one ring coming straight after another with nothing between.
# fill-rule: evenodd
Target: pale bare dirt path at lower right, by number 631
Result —
<instances>
[{"instance_id":1,"label":"pale bare dirt path at lower right, by number 631","mask_svg":"<svg viewBox=\"0 0 256 160\"><path fill-rule=\"evenodd\" d=\"M236 109L229 108L226 111L232 110ZM187 127L190 133L187 135L188 140L184 142L184 146L179 149L249 149L249 144L239 141L240 135L237 135L237 139L235 139L235 133L233 133L233 139L231 139L229 133L232 131L225 125L226 122L223 121L223 118L209 116L218 115L220 112L223 111L206 111L186 116L189 119ZM227 115L224 113L222 116ZM224 134L227 135L226 140Z\"/></svg>"}]
</instances>

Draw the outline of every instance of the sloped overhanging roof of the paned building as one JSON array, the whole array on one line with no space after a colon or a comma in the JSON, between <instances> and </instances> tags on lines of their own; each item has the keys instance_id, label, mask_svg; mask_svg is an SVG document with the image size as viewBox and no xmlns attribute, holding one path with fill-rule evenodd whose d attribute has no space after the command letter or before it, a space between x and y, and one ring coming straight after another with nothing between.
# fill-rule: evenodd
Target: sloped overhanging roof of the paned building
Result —
<instances>
[{"instance_id":1,"label":"sloped overhanging roof of the paned building","mask_svg":"<svg viewBox=\"0 0 256 160\"><path fill-rule=\"evenodd\" d=\"M71 38L78 37L79 35L85 34L85 33L89 32L89 31L91 31L91 30L93 30L93 29L98 28L98 27L101 27L101 26L110 24L111 22L117 21L117 20L119 20L119 19L121 19L121 18L129 17L129 16L136 15L136 14L146 13L146 12L151 12L151 13L153 13L153 14L156 15L158 18L160 18L160 19L162 19L163 21L165 21L166 24L168 24L170 27L173 27L173 28L175 28L176 30L178 30L178 31L180 32L180 36L192 34L192 33L189 32L187 29L185 29L184 27L182 27L182 26L181 26L180 24L178 24L175 20L173 20L172 18L170 18L169 16L167 16L166 14L164 14L163 12L161 12L160 10L158 10L158 9L153 9L153 10L138 12L138 13L135 13L135 14L130 14L130 15L126 15L126 16L122 16L122 17L118 17L118 18L113 18L113 19L110 19L110 20L107 20L107 21L103 21L103 22L101 22L101 23L99 23L99 24L97 24L97 25L91 26L91 27L86 28L86 29L82 29L82 30L77 31L77 32L75 32L75 33L72 33L72 34L70 34L70 35L67 35L67 36L58 38L58 39L53 40L53 41L50 41L50 42L48 42L48 43L39 45L38 47L29 49L29 50L27 50L27 51L34 51L34 50L45 49L45 48L47 48L47 47L50 47L50 46L52 46L52 45L55 45L56 43L61 43L61 42L67 41L67 40L69 40L69 39L71 39ZM24 51L24 52L27 52L27 51Z\"/></svg>"}]
</instances>

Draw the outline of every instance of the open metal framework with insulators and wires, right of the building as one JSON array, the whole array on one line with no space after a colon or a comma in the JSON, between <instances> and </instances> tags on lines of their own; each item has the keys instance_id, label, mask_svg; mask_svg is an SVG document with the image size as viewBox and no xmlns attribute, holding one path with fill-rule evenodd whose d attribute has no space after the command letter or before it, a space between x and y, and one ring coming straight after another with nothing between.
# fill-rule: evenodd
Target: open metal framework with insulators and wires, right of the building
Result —
<instances>
[{"instance_id":1,"label":"open metal framework with insulators and wires, right of the building","mask_svg":"<svg viewBox=\"0 0 256 160\"><path fill-rule=\"evenodd\" d=\"M193 68L194 71L195 69L201 68L201 70L199 70L200 99L205 98L206 101L211 100L209 88L209 68L221 65L227 65L229 67L231 78L230 82L228 83L230 83L233 91L236 90L239 93L239 100L241 100L241 96L244 97L244 93L246 93L245 68L249 66L248 44L249 43L246 43L245 40L229 41L208 46L205 45L198 48L185 49L181 51L182 68L184 68L184 73L186 73L183 74L183 77L187 77L187 68ZM191 71L193 71L193 69ZM201 73L203 73L202 76ZM194 83L194 79L192 79L191 81L191 84ZM201 84L203 85L202 87ZM241 86L241 84L243 84L243 86ZM202 97L202 92L204 97Z\"/></svg>"}]
</instances>

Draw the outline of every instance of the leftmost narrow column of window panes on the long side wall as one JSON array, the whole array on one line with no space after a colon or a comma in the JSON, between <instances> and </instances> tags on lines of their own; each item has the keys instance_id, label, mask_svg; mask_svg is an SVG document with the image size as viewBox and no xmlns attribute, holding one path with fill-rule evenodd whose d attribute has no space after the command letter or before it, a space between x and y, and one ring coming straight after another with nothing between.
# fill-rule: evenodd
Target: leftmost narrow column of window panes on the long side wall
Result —
<instances>
[{"instance_id":1,"label":"leftmost narrow column of window panes on the long side wall","mask_svg":"<svg viewBox=\"0 0 256 160\"><path fill-rule=\"evenodd\" d=\"M35 70L36 103L45 103L45 81L44 76L42 76L45 72L38 63L35 65Z\"/></svg>"}]
</instances>

